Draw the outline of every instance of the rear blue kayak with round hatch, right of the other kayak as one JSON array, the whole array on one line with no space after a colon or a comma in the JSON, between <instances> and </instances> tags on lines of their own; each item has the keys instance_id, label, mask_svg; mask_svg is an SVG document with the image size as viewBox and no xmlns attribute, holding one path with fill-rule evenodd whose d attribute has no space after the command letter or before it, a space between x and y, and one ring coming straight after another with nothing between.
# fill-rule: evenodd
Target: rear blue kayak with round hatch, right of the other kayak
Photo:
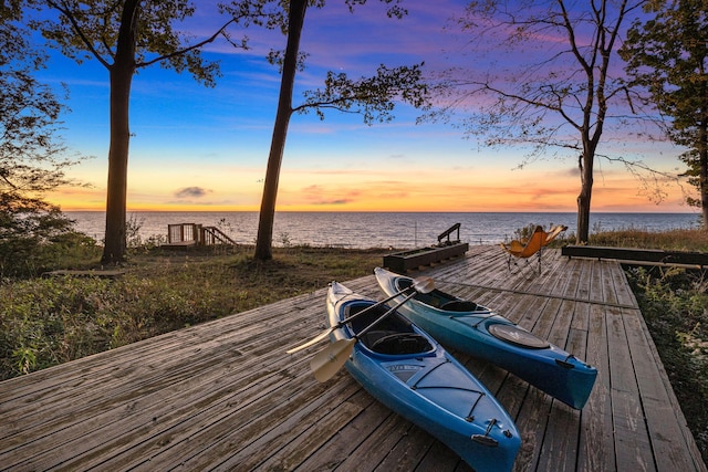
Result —
<instances>
[{"instance_id":1,"label":"rear blue kayak with round hatch, right of the other kayak","mask_svg":"<svg viewBox=\"0 0 708 472\"><path fill-rule=\"evenodd\" d=\"M376 268L374 274L388 295L413 284L385 269ZM399 311L442 345L507 369L573 408L583 408L595 384L596 368L486 306L436 289L416 293Z\"/></svg>"}]
</instances>

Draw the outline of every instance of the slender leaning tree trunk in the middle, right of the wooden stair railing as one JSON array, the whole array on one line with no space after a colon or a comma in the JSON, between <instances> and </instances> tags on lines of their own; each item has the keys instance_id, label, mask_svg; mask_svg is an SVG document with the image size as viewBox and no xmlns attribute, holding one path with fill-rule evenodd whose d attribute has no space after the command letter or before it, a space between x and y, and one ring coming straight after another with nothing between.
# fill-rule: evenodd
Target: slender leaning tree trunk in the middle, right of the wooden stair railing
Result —
<instances>
[{"instance_id":1,"label":"slender leaning tree trunk in the middle, right of the wooden stair railing","mask_svg":"<svg viewBox=\"0 0 708 472\"><path fill-rule=\"evenodd\" d=\"M288 19L288 45L283 61L283 72L280 82L280 96L278 98L278 113L273 126L273 137L268 156L266 169L266 182L263 185L263 198L258 220L258 237L256 239L254 258L267 261L273 258L273 221L275 219L275 198L278 197L278 181L280 179L280 166L283 160L288 125L292 115L292 90L298 71L298 54L300 51L300 36L304 23L306 0L291 0Z\"/></svg>"}]
</instances>

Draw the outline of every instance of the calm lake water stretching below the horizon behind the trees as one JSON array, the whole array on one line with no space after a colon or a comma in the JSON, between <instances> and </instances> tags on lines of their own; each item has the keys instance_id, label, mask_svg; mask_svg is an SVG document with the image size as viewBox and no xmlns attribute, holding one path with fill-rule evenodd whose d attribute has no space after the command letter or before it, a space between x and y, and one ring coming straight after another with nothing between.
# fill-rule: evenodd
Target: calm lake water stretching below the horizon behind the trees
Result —
<instances>
[{"instance_id":1,"label":"calm lake water stretching below the horizon behind the trees","mask_svg":"<svg viewBox=\"0 0 708 472\"><path fill-rule=\"evenodd\" d=\"M105 213L66 211L76 230L103 240ZM253 244L258 212L128 212L129 224L142 239L167 238L167 224L214 225L240 244ZM460 223L460 240L471 244L508 241L529 224L565 224L575 233L575 213L393 213L393 212L279 212L275 213L273 244L312 247L408 249L437 243L437 237ZM617 229L662 231L696 228L698 213L592 213L591 233ZM456 234L452 234L454 237Z\"/></svg>"}]
</instances>

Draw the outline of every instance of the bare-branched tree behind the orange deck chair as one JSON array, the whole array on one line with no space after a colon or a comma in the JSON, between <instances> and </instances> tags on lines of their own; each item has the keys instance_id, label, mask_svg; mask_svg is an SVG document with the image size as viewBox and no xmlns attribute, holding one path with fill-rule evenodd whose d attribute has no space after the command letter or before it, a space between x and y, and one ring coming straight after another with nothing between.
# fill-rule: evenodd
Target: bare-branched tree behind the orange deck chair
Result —
<instances>
[{"instance_id":1,"label":"bare-branched tree behind the orange deck chair","mask_svg":"<svg viewBox=\"0 0 708 472\"><path fill-rule=\"evenodd\" d=\"M626 88L613 76L628 18L645 0L480 0L460 24L479 55L475 69L451 71L448 111L475 99L468 133L489 146L518 146L528 161L576 156L577 242L586 242L595 160L611 119L623 123ZM504 56L500 64L494 57ZM487 59L488 62L483 62ZM461 78L460 78L461 77ZM611 115L612 106L621 112ZM625 164L628 159L618 157Z\"/></svg>"}]
</instances>

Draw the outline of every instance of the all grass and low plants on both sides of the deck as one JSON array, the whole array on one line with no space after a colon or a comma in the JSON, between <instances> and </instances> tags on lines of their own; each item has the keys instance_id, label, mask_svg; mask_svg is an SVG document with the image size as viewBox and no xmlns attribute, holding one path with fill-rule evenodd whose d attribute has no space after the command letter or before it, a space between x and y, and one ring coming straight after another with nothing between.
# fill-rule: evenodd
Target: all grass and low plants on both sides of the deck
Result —
<instances>
[{"instance_id":1,"label":"all grass and low plants on both sides of the deck","mask_svg":"<svg viewBox=\"0 0 708 472\"><path fill-rule=\"evenodd\" d=\"M568 235L565 243L572 242ZM556 244L563 243L558 241ZM699 230L594 234L594 245L708 252ZM125 275L37 277L0 284L0 380L372 273L387 250L252 248L132 250ZM101 269L96 248L54 269ZM626 268L676 396L708 462L708 281L700 271Z\"/></svg>"}]
</instances>

